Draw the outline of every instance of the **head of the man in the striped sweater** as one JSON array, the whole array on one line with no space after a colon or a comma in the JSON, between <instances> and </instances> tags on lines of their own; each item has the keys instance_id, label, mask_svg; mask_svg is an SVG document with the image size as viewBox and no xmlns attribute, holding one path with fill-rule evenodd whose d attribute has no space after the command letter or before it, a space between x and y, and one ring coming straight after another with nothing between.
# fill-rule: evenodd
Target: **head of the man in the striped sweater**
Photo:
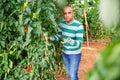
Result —
<instances>
[{"instance_id":1,"label":"head of the man in the striped sweater","mask_svg":"<svg viewBox=\"0 0 120 80\"><path fill-rule=\"evenodd\" d=\"M74 13L71 7L64 8L63 17L67 21L67 23L71 23L74 20L73 16L74 16Z\"/></svg>"}]
</instances>

